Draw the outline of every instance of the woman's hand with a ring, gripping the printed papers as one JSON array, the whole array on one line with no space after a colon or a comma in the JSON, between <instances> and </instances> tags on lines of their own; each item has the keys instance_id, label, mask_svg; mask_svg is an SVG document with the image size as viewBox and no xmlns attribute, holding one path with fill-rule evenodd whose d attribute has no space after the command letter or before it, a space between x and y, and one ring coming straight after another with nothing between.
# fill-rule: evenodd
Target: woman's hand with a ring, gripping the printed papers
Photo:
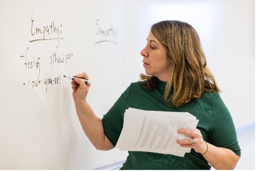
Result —
<instances>
[{"instance_id":1,"label":"woman's hand with a ring, gripping the printed papers","mask_svg":"<svg viewBox=\"0 0 256 171\"><path fill-rule=\"evenodd\" d=\"M178 139L177 144L180 144L181 147L194 148L196 152L201 154L206 152L207 145L204 142L203 136L199 129L196 129L195 131L189 129L178 129L178 133L190 135L191 137L191 139Z\"/></svg>"}]
</instances>

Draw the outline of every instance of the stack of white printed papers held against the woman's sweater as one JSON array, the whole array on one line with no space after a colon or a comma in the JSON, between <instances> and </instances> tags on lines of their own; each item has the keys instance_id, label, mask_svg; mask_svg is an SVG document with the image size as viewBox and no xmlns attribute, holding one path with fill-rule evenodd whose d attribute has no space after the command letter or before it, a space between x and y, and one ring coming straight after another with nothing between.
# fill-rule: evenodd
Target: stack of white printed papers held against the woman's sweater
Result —
<instances>
[{"instance_id":1,"label":"stack of white printed papers held against the woman's sweater","mask_svg":"<svg viewBox=\"0 0 256 171\"><path fill-rule=\"evenodd\" d=\"M177 139L190 139L178 129L195 130L198 120L188 112L144 111L129 108L116 148L124 151L147 151L184 157L191 148L180 147Z\"/></svg>"}]
</instances>

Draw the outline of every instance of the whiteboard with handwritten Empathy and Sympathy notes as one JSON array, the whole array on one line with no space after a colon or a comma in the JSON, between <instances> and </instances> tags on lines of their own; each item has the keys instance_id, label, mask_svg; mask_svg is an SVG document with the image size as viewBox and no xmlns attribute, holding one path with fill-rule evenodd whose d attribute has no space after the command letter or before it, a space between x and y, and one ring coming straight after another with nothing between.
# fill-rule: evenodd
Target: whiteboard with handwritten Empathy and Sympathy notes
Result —
<instances>
[{"instance_id":1,"label":"whiteboard with handwritten Empathy and Sympathy notes","mask_svg":"<svg viewBox=\"0 0 256 171\"><path fill-rule=\"evenodd\" d=\"M123 13L120 0L0 0L1 170L87 170L126 158L91 145L63 77L88 73L88 102L102 118L123 91Z\"/></svg>"}]
</instances>

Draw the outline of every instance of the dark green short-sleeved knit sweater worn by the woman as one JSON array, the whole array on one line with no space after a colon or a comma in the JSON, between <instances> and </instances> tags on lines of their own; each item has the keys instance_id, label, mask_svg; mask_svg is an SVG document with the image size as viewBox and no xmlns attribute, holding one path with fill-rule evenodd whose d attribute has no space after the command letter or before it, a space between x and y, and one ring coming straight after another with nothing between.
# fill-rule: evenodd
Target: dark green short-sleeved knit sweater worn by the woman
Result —
<instances>
[{"instance_id":1,"label":"dark green short-sleeved knit sweater worn by the woman","mask_svg":"<svg viewBox=\"0 0 256 171\"><path fill-rule=\"evenodd\" d=\"M125 109L137 108L148 111L189 112L199 119L197 129L203 139L217 147L229 148L241 155L232 117L221 100L219 93L203 93L180 107L168 107L163 101L166 82L158 80L153 91L139 82L131 83L102 118L104 132L115 146L121 134ZM129 151L124 170L209 170L211 166L204 157L193 149L184 157L153 152Z\"/></svg>"}]
</instances>

